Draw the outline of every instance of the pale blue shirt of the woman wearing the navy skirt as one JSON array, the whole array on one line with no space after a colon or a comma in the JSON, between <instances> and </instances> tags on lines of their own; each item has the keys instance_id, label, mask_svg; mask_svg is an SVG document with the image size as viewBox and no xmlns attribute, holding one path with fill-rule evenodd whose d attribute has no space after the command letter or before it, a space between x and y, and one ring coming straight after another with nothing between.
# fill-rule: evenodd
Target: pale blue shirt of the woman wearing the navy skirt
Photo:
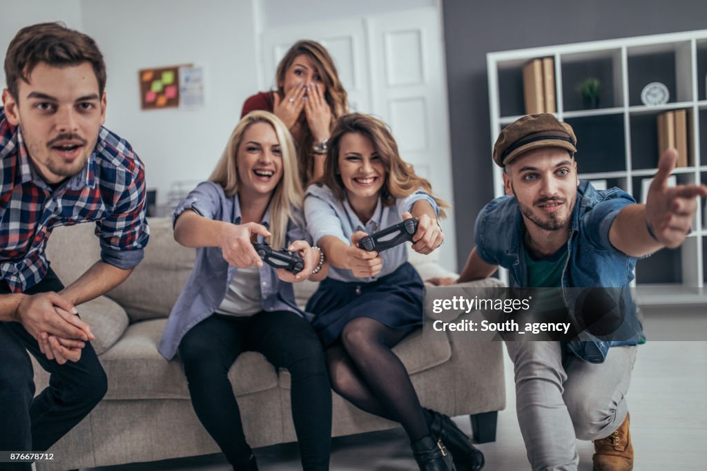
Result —
<instances>
[{"instance_id":1,"label":"pale blue shirt of the woman wearing the navy skirt","mask_svg":"<svg viewBox=\"0 0 707 471\"><path fill-rule=\"evenodd\" d=\"M318 243L324 236L334 236L351 245L351 236L357 231L373 234L402 222L402 214L411 211L416 202L424 200L432 205L439 214L439 207L433 197L426 192L418 190L406 198L398 198L395 206L383 206L380 197L376 204L373 217L370 221L363 223L354 209L351 208L348 199L339 200L332 190L326 185L311 185L305 194L305 218L307 219L307 230L312 236L314 243ZM366 279L356 278L349 269L329 267L329 278L338 281L374 281L387 274L395 272L400 265L407 262L407 247L405 244L397 245L394 248L380 252L383 260L383 268L376 277Z\"/></svg>"}]
</instances>

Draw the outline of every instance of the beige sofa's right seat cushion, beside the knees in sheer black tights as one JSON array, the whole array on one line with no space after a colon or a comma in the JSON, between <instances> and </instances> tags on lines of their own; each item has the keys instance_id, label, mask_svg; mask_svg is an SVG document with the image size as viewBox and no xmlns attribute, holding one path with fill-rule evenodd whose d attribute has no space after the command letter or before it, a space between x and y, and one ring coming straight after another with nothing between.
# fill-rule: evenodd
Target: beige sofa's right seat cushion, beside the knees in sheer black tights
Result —
<instances>
[{"instance_id":1,"label":"beige sofa's right seat cushion, beside the knees in sheer black tights","mask_svg":"<svg viewBox=\"0 0 707 471\"><path fill-rule=\"evenodd\" d=\"M422 329L414 330L402 339L402 342L393 347L393 351L410 376L434 368L452 358L452 347L448 341L428 342L422 335ZM279 371L279 380L282 388L290 388L291 378L287 370Z\"/></svg>"}]
</instances>

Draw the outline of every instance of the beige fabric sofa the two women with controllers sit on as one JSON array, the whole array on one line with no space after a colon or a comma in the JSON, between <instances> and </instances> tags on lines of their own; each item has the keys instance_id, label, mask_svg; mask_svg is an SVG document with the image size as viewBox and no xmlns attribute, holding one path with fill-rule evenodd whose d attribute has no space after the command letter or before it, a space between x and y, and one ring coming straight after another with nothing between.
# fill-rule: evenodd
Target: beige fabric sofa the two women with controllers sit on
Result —
<instances>
[{"instance_id":1,"label":"beige fabric sofa the two women with controllers sit on","mask_svg":"<svg viewBox=\"0 0 707 471\"><path fill-rule=\"evenodd\" d=\"M157 346L170 308L184 286L194 250L173 240L171 221L150 219L145 260L113 291L79 306L96 336L93 346L108 378L108 392L86 419L56 443L54 461L37 470L117 465L218 453L194 414L180 361L165 361ZM69 284L98 260L93 224L57 228L47 248L52 268ZM445 275L434 255L413 254L423 278ZM477 282L499 286L495 279ZM296 286L299 303L316 288ZM453 338L452 335L449 336ZM493 441L496 411L505 407L501 342L430 342L421 332L403 340L395 353L409 371L422 404L450 416L472 415L477 441ZM48 375L35 363L37 392ZM251 446L296 441L290 412L290 377L264 356L247 352L230 369L245 434ZM397 426L334 394L333 436Z\"/></svg>"}]
</instances>

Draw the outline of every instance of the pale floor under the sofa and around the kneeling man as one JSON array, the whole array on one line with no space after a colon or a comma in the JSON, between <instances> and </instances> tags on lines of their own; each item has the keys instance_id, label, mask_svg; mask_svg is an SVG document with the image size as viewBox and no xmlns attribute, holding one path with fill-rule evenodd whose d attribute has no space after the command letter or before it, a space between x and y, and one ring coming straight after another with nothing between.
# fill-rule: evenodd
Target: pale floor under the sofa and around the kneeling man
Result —
<instances>
[{"instance_id":1,"label":"pale floor under the sofa and around the kneeling man","mask_svg":"<svg viewBox=\"0 0 707 471\"><path fill-rule=\"evenodd\" d=\"M705 321L697 327L707 334ZM496 442L479 446L486 455L485 469L488 471L530 469L515 418L511 366L506 358L508 408L498 416ZM706 394L707 342L653 341L640 347L628 396L631 434L636 450L635 470L707 470ZM467 434L471 433L467 417L457 417L455 421ZM579 471L590 471L592 443L578 442L578 450ZM294 444L259 448L256 455L259 468L264 471L300 469ZM335 471L417 469L402 429L334 439L331 463L331 469ZM230 471L230 467L221 455L209 455L90 471L99 470Z\"/></svg>"}]
</instances>

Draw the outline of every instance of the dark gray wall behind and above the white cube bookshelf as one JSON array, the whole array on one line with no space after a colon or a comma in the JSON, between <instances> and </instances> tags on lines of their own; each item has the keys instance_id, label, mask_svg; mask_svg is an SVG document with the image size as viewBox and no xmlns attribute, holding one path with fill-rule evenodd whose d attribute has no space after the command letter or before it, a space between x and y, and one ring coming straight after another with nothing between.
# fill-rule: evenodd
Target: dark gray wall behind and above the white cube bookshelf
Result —
<instances>
[{"instance_id":1,"label":"dark gray wall behind and above the white cube bookshelf","mask_svg":"<svg viewBox=\"0 0 707 471\"><path fill-rule=\"evenodd\" d=\"M493 197L486 53L705 29L707 1L443 0L443 21L461 269Z\"/></svg>"}]
</instances>

